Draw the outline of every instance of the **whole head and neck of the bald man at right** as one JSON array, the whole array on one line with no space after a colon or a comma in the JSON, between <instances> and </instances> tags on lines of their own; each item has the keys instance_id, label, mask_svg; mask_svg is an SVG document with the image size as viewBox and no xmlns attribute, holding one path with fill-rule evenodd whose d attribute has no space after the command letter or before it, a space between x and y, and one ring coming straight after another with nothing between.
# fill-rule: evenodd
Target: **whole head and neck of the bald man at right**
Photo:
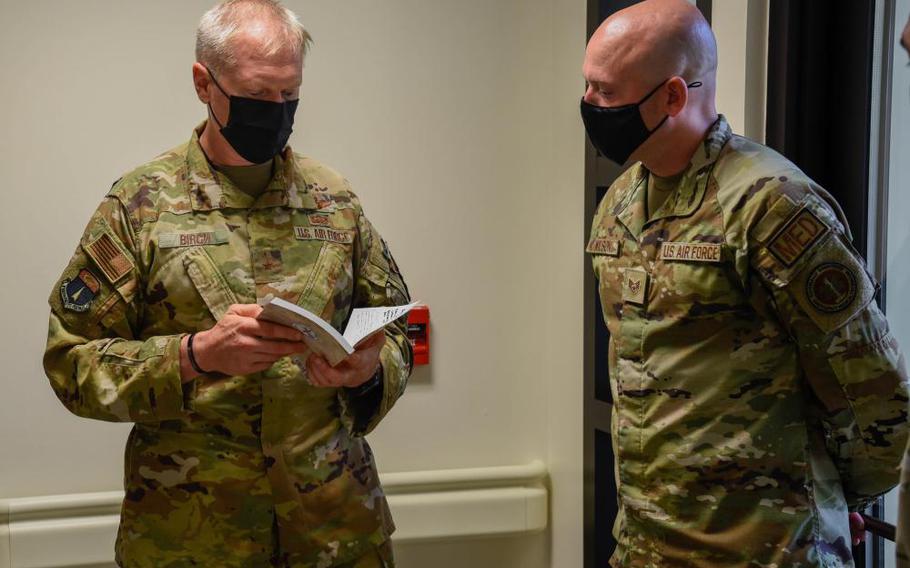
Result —
<instances>
[{"instance_id":1,"label":"whole head and neck of the bald man at right","mask_svg":"<svg viewBox=\"0 0 910 568\"><path fill-rule=\"evenodd\" d=\"M717 121L717 44L686 0L645 0L607 18L591 36L583 73L585 128L617 162L637 160L657 175L679 173ZM637 107L632 114L591 110L629 105Z\"/></svg>"}]
</instances>

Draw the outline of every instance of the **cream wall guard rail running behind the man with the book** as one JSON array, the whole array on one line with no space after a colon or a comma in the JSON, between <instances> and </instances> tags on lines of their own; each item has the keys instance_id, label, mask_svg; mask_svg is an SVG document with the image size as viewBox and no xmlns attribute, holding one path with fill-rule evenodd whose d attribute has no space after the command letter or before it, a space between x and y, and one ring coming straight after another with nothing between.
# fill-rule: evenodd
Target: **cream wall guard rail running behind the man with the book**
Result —
<instances>
[{"instance_id":1,"label":"cream wall guard rail running behind the man with the book","mask_svg":"<svg viewBox=\"0 0 910 568\"><path fill-rule=\"evenodd\" d=\"M546 469L523 466L380 475L396 543L539 532L547 527ZM0 568L113 562L123 493L0 500Z\"/></svg>"}]
</instances>

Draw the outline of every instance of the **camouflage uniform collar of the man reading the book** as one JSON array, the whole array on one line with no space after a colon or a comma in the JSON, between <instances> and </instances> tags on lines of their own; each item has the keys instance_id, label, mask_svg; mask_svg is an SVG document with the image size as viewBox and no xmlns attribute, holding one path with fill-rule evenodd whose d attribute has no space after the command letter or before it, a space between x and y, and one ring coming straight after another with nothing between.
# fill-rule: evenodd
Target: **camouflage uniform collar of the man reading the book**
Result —
<instances>
[{"instance_id":1,"label":"camouflage uniform collar of the man reading the book","mask_svg":"<svg viewBox=\"0 0 910 568\"><path fill-rule=\"evenodd\" d=\"M293 207L318 209L313 192L297 167L290 146L275 156L275 175L258 197L244 193L224 174L216 171L205 157L199 136L205 122L193 130L186 153L186 182L194 211L213 209L262 209Z\"/></svg>"}]
</instances>

